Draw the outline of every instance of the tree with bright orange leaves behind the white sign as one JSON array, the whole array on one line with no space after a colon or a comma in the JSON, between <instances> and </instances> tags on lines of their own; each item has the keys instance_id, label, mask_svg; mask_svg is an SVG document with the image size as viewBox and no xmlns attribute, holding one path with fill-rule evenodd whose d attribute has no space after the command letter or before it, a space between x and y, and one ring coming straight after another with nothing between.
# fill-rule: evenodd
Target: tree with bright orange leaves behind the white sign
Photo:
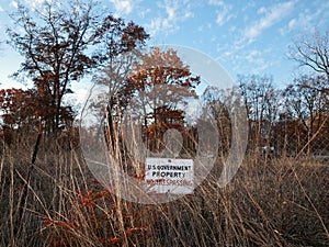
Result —
<instances>
[{"instance_id":1,"label":"tree with bright orange leaves behind the white sign","mask_svg":"<svg viewBox=\"0 0 329 247\"><path fill-rule=\"evenodd\" d=\"M155 148L159 149L159 139L168 128L183 126L181 109L189 99L197 98L195 88L201 82L200 77L192 75L177 50L161 52L154 47L134 64L128 82L134 86L134 96L138 99L135 106L141 109L145 128L152 126Z\"/></svg>"}]
</instances>

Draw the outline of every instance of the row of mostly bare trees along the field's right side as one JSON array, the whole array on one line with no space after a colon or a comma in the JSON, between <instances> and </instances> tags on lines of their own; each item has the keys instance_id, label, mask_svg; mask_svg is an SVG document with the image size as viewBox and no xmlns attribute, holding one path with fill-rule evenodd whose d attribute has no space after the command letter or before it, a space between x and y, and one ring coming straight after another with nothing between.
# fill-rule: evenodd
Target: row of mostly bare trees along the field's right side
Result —
<instances>
[{"instance_id":1,"label":"row of mostly bare trees along the field's right side","mask_svg":"<svg viewBox=\"0 0 329 247\"><path fill-rule=\"evenodd\" d=\"M271 77L240 76L234 91L241 96L248 115L248 150L272 155L329 154L329 92L325 76L302 76L283 89ZM229 149L231 92L208 88L204 94L216 116L220 142ZM270 155L270 154L269 154Z\"/></svg>"}]
</instances>

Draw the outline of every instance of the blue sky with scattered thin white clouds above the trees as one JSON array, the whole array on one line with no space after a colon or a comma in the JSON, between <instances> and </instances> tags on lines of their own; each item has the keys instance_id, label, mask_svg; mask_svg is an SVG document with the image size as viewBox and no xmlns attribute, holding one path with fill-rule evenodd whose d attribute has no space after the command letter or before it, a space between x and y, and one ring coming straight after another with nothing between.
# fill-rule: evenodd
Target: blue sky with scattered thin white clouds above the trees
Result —
<instances>
[{"instance_id":1,"label":"blue sky with scattered thin white clouds above the trees","mask_svg":"<svg viewBox=\"0 0 329 247\"><path fill-rule=\"evenodd\" d=\"M21 0L35 8L43 0ZM329 29L326 0L103 0L115 15L133 20L151 35L149 45L175 44L198 49L218 61L236 79L237 75L273 76L279 87L292 82L299 72L287 59L288 46L314 29ZM13 0L0 2L0 38L5 38L8 12ZM19 87L8 75L19 68L19 55L0 47L0 83ZM82 90L80 85L77 90Z\"/></svg>"}]
</instances>

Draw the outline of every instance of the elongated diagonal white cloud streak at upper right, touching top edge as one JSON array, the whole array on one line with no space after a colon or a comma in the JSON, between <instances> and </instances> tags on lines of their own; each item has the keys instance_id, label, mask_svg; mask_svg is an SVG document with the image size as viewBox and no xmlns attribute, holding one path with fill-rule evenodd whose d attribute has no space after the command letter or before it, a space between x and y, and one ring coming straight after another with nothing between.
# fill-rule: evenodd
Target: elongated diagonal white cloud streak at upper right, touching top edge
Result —
<instances>
[{"instance_id":1,"label":"elongated diagonal white cloud streak at upper right, touching top edge","mask_svg":"<svg viewBox=\"0 0 329 247\"><path fill-rule=\"evenodd\" d=\"M295 0L276 3L269 9L261 8L262 10L259 10L258 12L264 14L264 16L245 30L245 37L248 40L254 40L262 33L263 30L271 27L282 18L286 16L293 10L294 4Z\"/></svg>"}]
</instances>

